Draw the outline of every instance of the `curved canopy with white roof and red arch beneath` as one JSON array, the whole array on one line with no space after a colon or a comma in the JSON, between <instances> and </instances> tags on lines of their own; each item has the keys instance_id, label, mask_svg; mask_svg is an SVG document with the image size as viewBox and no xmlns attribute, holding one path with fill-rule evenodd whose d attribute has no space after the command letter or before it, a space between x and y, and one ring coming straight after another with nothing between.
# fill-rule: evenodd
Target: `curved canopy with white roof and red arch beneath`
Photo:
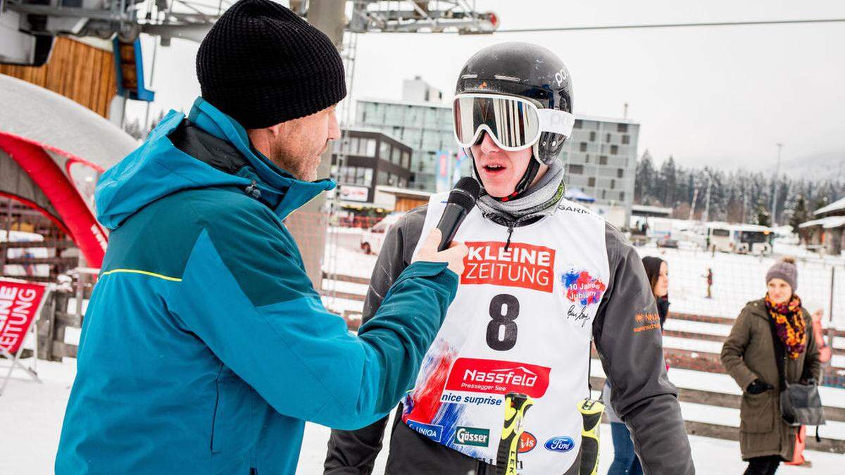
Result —
<instances>
[{"instance_id":1,"label":"curved canopy with white roof and red arch beneath","mask_svg":"<svg viewBox=\"0 0 845 475\"><path fill-rule=\"evenodd\" d=\"M0 74L0 195L29 205L99 267L106 232L95 219L96 177L138 143L84 106Z\"/></svg>"}]
</instances>

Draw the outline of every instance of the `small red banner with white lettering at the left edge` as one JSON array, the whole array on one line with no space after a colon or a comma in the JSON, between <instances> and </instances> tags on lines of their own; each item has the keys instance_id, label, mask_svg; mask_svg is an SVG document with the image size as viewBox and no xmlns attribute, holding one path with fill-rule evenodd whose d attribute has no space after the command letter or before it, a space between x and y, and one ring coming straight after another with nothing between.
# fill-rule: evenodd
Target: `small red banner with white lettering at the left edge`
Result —
<instances>
[{"instance_id":1,"label":"small red banner with white lettering at the left edge","mask_svg":"<svg viewBox=\"0 0 845 475\"><path fill-rule=\"evenodd\" d=\"M18 352L45 290L41 284L0 280L0 347Z\"/></svg>"}]
</instances>

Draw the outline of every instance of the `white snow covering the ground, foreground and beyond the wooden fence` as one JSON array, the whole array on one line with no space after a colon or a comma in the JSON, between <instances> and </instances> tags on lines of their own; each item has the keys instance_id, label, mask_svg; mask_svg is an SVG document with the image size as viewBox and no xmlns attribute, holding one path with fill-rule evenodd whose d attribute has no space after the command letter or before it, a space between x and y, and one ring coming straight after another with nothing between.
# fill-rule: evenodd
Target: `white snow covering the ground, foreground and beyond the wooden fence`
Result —
<instances>
[{"instance_id":1,"label":"white snow covering the ground, foreground and beyond the wooden fence","mask_svg":"<svg viewBox=\"0 0 845 475\"><path fill-rule=\"evenodd\" d=\"M359 232L346 232L338 238L340 246L329 260L327 254L324 270L341 275L369 278L373 272L377 256L366 255L357 248ZM823 308L829 314L831 265L837 265L837 286L834 303L837 326L845 328L845 266L842 259L818 259L800 251L776 246L779 254L793 254L799 258L799 294L804 298L807 308ZM638 248L641 255L660 255L669 264L670 298L675 312L690 314L710 314L733 317L739 314L744 303L760 298L765 292L764 276L768 267L777 258L760 258L736 254L711 254L695 249L658 249L655 247ZM707 268L714 273L713 297L706 298ZM367 286L363 284L335 282L338 292L363 295ZM324 303L336 312L344 310L359 312L363 307L360 301L343 298L324 298ZM690 331L706 335L727 336L729 325L708 324L702 322L669 319L669 330ZM78 341L79 330L68 329L66 341ZM676 347L699 352L719 352L721 344L714 341L699 341L686 338L666 337L667 347ZM837 339L836 347L845 347L845 339ZM835 364L845 366L845 357L837 355ZM29 360L27 360L29 362ZM0 360L0 367L3 366ZM38 370L44 379L43 384L35 384L24 379L23 374L9 383L6 394L0 396L0 428L12 428L14 436L0 440L0 474L29 475L52 472L59 431L61 429L65 405L70 385L72 384L76 361L65 358L64 363L38 362ZM593 361L592 374L603 376L602 366ZM737 385L727 374L711 374L687 369L671 369L669 379L681 388L710 390L739 395ZM823 403L830 407L845 407L845 390L829 387L820 388ZM707 423L720 423L730 427L739 425L739 411L725 407L712 407L683 402L684 418ZM303 450L297 473L312 474L322 472L325 443L329 429L315 424L307 424ZM825 437L845 440L845 423L830 423L822 429ZM385 434L389 439L390 431ZM602 456L600 472L607 472L613 457L613 445L610 442L610 429L602 426ZM699 473L735 474L744 470L740 461L739 444L728 440L716 440L705 437L690 437L693 456ZM385 445L389 444L385 440ZM808 452L807 458L813 462L813 468L782 467L778 473L842 473L842 461L845 457L836 454ZM385 454L381 454L376 464L376 473L384 472Z\"/></svg>"}]
</instances>

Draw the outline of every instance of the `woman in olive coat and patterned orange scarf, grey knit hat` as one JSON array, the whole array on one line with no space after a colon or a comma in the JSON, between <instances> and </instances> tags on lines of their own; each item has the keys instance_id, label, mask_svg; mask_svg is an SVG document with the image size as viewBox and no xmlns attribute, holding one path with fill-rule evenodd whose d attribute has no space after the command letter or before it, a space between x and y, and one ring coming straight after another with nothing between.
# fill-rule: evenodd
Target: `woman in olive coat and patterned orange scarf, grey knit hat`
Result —
<instances>
[{"instance_id":1,"label":"woman in olive coat and patterned orange scarf, grey knit hat","mask_svg":"<svg viewBox=\"0 0 845 475\"><path fill-rule=\"evenodd\" d=\"M795 293L798 268L784 258L766 273L766 297L745 305L722 347L722 364L743 390L739 408L739 449L746 475L771 474L793 460L799 428L780 416L775 346L782 347L788 382L820 379L821 364L813 320ZM772 336L774 325L777 337Z\"/></svg>"}]
</instances>

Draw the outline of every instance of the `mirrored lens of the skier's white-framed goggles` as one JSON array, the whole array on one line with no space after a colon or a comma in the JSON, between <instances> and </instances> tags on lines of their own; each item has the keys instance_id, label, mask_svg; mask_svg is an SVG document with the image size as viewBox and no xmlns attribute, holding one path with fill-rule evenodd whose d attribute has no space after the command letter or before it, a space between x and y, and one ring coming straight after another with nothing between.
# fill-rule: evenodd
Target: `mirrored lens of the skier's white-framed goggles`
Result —
<instances>
[{"instance_id":1,"label":"mirrored lens of the skier's white-framed goggles","mask_svg":"<svg viewBox=\"0 0 845 475\"><path fill-rule=\"evenodd\" d=\"M537 109L527 101L508 97L455 97L455 138L464 147L488 131L497 145L524 148L540 136Z\"/></svg>"}]
</instances>

